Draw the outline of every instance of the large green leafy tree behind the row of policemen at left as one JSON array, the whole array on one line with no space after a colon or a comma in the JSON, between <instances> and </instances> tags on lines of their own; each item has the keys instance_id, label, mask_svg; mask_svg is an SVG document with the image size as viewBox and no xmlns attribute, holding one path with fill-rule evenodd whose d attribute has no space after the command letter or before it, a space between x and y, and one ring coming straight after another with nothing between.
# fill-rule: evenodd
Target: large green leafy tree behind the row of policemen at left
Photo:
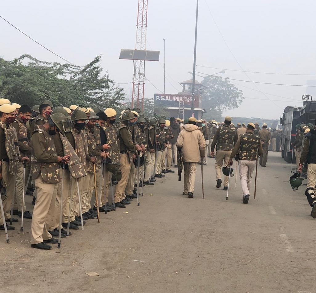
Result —
<instances>
[{"instance_id":1,"label":"large green leafy tree behind the row of policemen at left","mask_svg":"<svg viewBox=\"0 0 316 293\"><path fill-rule=\"evenodd\" d=\"M26 64L23 63L26 61ZM54 105L76 104L120 110L125 101L108 73L102 75L101 57L86 66L40 61L22 55L13 61L0 58L0 97L33 106L49 97Z\"/></svg>"}]
</instances>

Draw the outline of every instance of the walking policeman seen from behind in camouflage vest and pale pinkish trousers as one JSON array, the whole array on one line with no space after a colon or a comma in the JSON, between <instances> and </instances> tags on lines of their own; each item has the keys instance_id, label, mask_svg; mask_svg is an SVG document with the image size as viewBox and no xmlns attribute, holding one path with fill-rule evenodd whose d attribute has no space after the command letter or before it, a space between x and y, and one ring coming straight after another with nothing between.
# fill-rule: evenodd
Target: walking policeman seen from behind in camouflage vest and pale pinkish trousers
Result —
<instances>
[{"instance_id":1,"label":"walking policeman seen from behind in camouflage vest and pale pinkish trousers","mask_svg":"<svg viewBox=\"0 0 316 293\"><path fill-rule=\"evenodd\" d=\"M229 165L232 165L233 158L238 156L239 178L244 204L249 201L252 173L256 167L257 157L263 154L260 137L253 133L255 128L253 123L248 123L246 133L239 136L229 159Z\"/></svg>"}]
</instances>

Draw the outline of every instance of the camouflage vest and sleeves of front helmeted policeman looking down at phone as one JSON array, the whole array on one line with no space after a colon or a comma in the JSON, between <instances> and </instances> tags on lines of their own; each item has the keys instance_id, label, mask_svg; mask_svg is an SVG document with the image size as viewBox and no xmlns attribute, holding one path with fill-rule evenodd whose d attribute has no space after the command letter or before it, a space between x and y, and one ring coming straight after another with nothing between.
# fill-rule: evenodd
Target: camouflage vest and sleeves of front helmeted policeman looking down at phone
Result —
<instances>
[{"instance_id":1,"label":"camouflage vest and sleeves of front helmeted policeman looking down at phone","mask_svg":"<svg viewBox=\"0 0 316 293\"><path fill-rule=\"evenodd\" d=\"M39 126L32 132L32 140L32 179L41 175L47 183L58 183L60 173L53 137L42 126Z\"/></svg>"}]
</instances>

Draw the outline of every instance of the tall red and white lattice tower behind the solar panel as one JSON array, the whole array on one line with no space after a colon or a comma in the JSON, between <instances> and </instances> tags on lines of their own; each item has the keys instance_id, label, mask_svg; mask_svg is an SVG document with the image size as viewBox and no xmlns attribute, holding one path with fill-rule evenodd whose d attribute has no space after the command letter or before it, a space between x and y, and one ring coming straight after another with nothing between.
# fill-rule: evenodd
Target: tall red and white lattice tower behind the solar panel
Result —
<instances>
[{"instance_id":1,"label":"tall red and white lattice tower behind the solar panel","mask_svg":"<svg viewBox=\"0 0 316 293\"><path fill-rule=\"evenodd\" d=\"M135 50L146 50L148 0L138 0ZM132 108L144 108L145 61L134 60Z\"/></svg>"}]
</instances>

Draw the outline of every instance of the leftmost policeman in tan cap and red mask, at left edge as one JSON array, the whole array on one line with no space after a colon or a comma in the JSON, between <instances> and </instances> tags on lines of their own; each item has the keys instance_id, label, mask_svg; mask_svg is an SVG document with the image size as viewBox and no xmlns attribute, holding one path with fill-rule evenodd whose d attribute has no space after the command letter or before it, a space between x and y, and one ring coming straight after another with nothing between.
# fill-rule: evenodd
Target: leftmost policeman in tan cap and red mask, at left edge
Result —
<instances>
[{"instance_id":1,"label":"leftmost policeman in tan cap and red mask, at left edge","mask_svg":"<svg viewBox=\"0 0 316 293\"><path fill-rule=\"evenodd\" d=\"M4 99L6 100L6 99ZM3 200L4 217L0 214L0 229L4 230L4 220L10 221L10 208L14 200L15 179L19 171L20 161L28 160L28 157L20 157L18 140L12 123L15 121L15 106L3 104L0 106L0 178L7 185L6 198ZM18 222L17 219L12 219ZM14 226L8 226L8 230L14 230Z\"/></svg>"}]
</instances>

